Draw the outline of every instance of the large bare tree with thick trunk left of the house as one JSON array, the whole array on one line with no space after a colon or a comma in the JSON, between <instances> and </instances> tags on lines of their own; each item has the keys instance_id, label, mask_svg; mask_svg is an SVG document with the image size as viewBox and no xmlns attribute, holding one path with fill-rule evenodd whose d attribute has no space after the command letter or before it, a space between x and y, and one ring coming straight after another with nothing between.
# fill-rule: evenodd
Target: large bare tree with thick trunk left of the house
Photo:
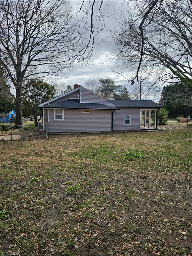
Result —
<instances>
[{"instance_id":1,"label":"large bare tree with thick trunk left of the house","mask_svg":"<svg viewBox=\"0 0 192 256\"><path fill-rule=\"evenodd\" d=\"M82 56L78 41L67 1L0 0L0 66L16 90L16 125L23 83L70 70Z\"/></svg>"}]
</instances>

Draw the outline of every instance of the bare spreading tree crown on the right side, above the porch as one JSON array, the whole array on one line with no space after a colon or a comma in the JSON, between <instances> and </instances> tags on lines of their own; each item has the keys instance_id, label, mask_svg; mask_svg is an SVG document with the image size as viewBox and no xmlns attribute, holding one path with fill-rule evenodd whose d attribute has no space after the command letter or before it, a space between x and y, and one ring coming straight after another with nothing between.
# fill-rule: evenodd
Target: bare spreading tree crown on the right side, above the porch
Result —
<instances>
[{"instance_id":1,"label":"bare spreading tree crown on the right side, above the porch","mask_svg":"<svg viewBox=\"0 0 192 256\"><path fill-rule=\"evenodd\" d=\"M126 8L119 19L119 28L112 32L116 45L116 55L112 59L118 60L118 67L135 71L136 76L134 73L127 79L129 81L150 76L155 82L175 79L190 85L191 3L157 1L142 23L141 33L142 13L149 10L152 2L155 1L133 1L132 8Z\"/></svg>"}]
</instances>

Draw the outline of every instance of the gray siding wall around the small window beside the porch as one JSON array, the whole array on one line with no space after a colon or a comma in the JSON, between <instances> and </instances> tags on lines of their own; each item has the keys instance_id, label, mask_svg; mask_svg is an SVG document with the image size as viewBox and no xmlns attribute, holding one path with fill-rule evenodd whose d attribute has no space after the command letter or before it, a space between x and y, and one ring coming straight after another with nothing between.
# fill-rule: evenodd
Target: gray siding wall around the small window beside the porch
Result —
<instances>
[{"instance_id":1,"label":"gray siding wall around the small window beside the porch","mask_svg":"<svg viewBox=\"0 0 192 256\"><path fill-rule=\"evenodd\" d=\"M131 125L125 125L125 115L131 115ZM120 108L114 111L114 130L139 130L140 108Z\"/></svg>"}]
</instances>

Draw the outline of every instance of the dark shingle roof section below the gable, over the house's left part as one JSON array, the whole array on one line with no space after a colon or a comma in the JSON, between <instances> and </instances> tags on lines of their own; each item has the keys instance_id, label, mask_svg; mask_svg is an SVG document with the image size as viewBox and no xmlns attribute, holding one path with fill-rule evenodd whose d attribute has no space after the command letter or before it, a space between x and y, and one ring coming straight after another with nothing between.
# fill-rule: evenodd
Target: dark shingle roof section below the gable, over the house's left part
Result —
<instances>
[{"instance_id":1,"label":"dark shingle roof section below the gable, over the house's left part","mask_svg":"<svg viewBox=\"0 0 192 256\"><path fill-rule=\"evenodd\" d=\"M56 103L52 103L45 108L80 108L80 109L116 109L100 103L80 103L79 100L69 99Z\"/></svg>"}]
</instances>

